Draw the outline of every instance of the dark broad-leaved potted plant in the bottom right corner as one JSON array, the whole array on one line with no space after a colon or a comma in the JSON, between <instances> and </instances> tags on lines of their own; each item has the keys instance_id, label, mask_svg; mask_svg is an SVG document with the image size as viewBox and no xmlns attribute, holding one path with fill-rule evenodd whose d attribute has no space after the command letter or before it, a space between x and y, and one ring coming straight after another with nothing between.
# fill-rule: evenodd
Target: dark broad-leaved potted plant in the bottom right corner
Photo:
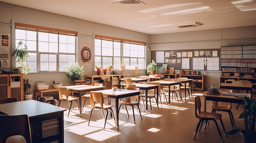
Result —
<instances>
[{"instance_id":1,"label":"dark broad-leaved potted plant in the bottom right corner","mask_svg":"<svg viewBox=\"0 0 256 143\"><path fill-rule=\"evenodd\" d=\"M240 131L240 128L238 128L227 132L227 134L232 135L240 131L243 143L255 143L256 100L245 97L244 112L239 116L239 119L241 118L244 118L245 130Z\"/></svg>"}]
</instances>

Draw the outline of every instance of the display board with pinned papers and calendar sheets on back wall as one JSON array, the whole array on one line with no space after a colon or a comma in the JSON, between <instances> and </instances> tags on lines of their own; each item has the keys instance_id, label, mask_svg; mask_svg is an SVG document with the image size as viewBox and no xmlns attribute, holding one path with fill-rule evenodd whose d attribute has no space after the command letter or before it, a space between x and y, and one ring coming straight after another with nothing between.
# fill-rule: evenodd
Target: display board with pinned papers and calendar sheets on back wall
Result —
<instances>
[{"instance_id":1,"label":"display board with pinned papers and calendar sheets on back wall","mask_svg":"<svg viewBox=\"0 0 256 143\"><path fill-rule=\"evenodd\" d=\"M160 67L167 64L175 70L220 70L220 48L195 50L151 51L151 58ZM164 59L164 60L163 60Z\"/></svg>"}]
</instances>

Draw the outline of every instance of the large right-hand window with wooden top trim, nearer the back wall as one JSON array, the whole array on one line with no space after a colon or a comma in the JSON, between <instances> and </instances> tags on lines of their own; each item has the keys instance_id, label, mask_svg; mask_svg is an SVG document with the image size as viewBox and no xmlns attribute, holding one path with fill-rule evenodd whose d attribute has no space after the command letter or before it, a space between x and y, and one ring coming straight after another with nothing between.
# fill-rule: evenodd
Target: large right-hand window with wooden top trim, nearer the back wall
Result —
<instances>
[{"instance_id":1,"label":"large right-hand window with wooden top trim, nearer the back wall","mask_svg":"<svg viewBox=\"0 0 256 143\"><path fill-rule=\"evenodd\" d=\"M113 69L145 69L145 42L95 35L95 66ZM96 68L95 68L96 70Z\"/></svg>"}]
</instances>

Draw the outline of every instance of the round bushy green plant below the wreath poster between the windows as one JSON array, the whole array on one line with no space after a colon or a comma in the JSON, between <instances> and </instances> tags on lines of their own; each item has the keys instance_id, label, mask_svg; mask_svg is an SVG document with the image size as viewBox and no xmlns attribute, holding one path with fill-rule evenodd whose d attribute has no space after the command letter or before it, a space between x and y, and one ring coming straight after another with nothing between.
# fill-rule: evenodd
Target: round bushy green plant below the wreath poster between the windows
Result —
<instances>
[{"instance_id":1,"label":"round bushy green plant below the wreath poster between the windows","mask_svg":"<svg viewBox=\"0 0 256 143\"><path fill-rule=\"evenodd\" d=\"M71 78L74 82L75 80L81 79L81 76L83 76L83 66L80 66L77 62L70 64L67 67L66 71L67 77Z\"/></svg>"}]
</instances>

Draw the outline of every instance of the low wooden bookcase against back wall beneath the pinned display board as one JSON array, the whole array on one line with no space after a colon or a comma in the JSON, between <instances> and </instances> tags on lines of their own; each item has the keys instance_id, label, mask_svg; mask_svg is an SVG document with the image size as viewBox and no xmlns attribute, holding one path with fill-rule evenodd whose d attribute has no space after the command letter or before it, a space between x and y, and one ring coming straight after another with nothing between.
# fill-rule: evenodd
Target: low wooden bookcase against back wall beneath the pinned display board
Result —
<instances>
[{"instance_id":1,"label":"low wooden bookcase against back wall beneath the pinned display board","mask_svg":"<svg viewBox=\"0 0 256 143\"><path fill-rule=\"evenodd\" d=\"M195 90L205 90L205 75L180 75L180 77L187 77L193 79L192 82L195 84Z\"/></svg>"}]
</instances>

